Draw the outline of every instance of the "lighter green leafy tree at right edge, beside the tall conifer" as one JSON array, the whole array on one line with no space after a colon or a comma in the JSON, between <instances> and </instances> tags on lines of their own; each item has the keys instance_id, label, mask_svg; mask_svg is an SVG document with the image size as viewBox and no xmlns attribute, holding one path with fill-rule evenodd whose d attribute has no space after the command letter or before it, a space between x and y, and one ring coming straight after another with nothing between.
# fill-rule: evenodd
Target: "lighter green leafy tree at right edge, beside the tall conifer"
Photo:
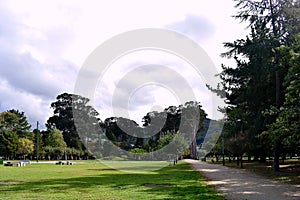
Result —
<instances>
[{"instance_id":1,"label":"lighter green leafy tree at right edge, beside the tall conifer","mask_svg":"<svg viewBox=\"0 0 300 200\"><path fill-rule=\"evenodd\" d=\"M278 51L283 54L281 64L289 65L289 71L285 77L285 101L278 109L272 107L266 114L277 116L276 121L263 133L273 143L282 143L281 150L287 149L294 153L300 148L300 34L296 37L296 43L292 47L280 47ZM293 152L290 152L293 153Z\"/></svg>"}]
</instances>

